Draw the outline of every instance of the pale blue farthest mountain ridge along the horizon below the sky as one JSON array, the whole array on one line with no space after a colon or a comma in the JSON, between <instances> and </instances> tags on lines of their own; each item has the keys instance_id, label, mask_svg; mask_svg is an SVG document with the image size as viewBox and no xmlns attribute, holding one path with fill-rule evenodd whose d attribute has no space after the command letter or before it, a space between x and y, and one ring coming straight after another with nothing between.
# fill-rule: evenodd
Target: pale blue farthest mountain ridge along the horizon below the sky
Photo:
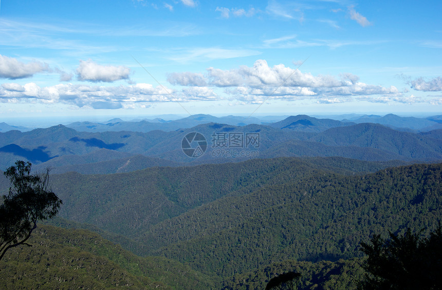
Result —
<instances>
[{"instance_id":1,"label":"pale blue farthest mountain ridge along the horizon below the sky","mask_svg":"<svg viewBox=\"0 0 442 290\"><path fill-rule=\"evenodd\" d=\"M391 127L393 129L411 132L425 132L442 128L442 115L435 115L427 118L399 117L395 114L381 115L361 115L343 114L333 115L329 118L308 115L292 116L266 116L266 117L243 117L228 115L224 117L214 117L209 114L196 114L182 118L178 115L158 115L153 119L133 119L124 121L121 118L113 118L104 122L73 122L66 127L77 131L104 132L104 131L138 131L149 132L152 130L173 131L177 129L191 128L201 124L219 123L234 126L244 126L249 124L270 125L276 128L288 128L304 131L319 131L330 127L344 126L342 123L375 123ZM339 123L340 122L340 123ZM284 124L284 125L282 125ZM0 132L9 130L30 131L30 128L21 126L10 126L5 122L0 123Z\"/></svg>"}]
</instances>

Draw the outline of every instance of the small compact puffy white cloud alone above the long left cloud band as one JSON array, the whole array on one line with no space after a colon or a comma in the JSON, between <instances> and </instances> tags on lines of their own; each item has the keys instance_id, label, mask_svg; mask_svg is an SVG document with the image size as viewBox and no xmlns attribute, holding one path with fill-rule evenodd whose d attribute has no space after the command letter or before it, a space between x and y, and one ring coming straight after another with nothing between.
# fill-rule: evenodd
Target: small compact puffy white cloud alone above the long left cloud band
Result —
<instances>
[{"instance_id":1,"label":"small compact puffy white cloud alone above the long left cloud band","mask_svg":"<svg viewBox=\"0 0 442 290\"><path fill-rule=\"evenodd\" d=\"M124 66L103 66L92 60L80 61L77 78L80 81L115 82L129 79L131 69Z\"/></svg>"}]
</instances>

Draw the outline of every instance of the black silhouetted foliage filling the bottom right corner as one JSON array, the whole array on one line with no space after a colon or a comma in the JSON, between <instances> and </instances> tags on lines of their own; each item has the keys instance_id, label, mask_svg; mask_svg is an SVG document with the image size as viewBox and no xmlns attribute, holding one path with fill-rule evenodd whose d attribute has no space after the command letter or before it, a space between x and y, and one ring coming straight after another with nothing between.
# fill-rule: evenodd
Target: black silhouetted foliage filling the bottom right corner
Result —
<instances>
[{"instance_id":1,"label":"black silhouetted foliage filling the bottom right corner","mask_svg":"<svg viewBox=\"0 0 442 290\"><path fill-rule=\"evenodd\" d=\"M368 255L363 264L366 270L360 281L361 289L441 289L442 288L442 228L430 237L420 239L422 231L412 233L408 228L403 236L389 231L390 239L375 235L371 244L361 243L361 251Z\"/></svg>"}]
</instances>

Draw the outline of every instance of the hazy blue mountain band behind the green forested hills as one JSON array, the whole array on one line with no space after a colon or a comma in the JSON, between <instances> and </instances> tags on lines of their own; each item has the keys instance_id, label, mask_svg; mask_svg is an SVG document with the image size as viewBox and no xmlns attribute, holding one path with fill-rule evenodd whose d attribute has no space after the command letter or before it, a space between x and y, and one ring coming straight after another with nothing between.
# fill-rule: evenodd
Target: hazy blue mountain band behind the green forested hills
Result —
<instances>
[{"instance_id":1,"label":"hazy blue mountain band behind the green forested hills","mask_svg":"<svg viewBox=\"0 0 442 290\"><path fill-rule=\"evenodd\" d=\"M213 118L196 115L187 119L190 122ZM307 115L291 116L268 125L205 123L185 128L186 124L189 123L183 122L181 129L172 131L149 132L136 131L137 127L132 131L85 132L63 125L28 132L0 132L0 166L6 168L15 160L22 159L32 162L35 168L51 166L57 173L71 170L116 173L153 166L239 162L251 158L287 156L340 156L364 161L442 160L442 129L426 132L395 130L379 124L346 123ZM190 158L182 150L182 140L190 132L201 133L207 141L206 152L198 158ZM259 136L258 146L246 146L245 143L240 147L216 146L218 136L229 138L231 134L240 134L244 140L247 134L255 134ZM247 154L232 156L232 151Z\"/></svg>"}]
</instances>

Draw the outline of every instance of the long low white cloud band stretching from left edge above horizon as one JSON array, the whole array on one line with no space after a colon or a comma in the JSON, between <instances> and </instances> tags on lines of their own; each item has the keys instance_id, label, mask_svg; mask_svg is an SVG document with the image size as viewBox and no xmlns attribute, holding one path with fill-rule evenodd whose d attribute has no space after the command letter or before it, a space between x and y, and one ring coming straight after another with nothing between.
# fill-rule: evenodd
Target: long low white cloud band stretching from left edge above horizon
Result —
<instances>
[{"instance_id":1,"label":"long low white cloud band stretching from left edge above horizon","mask_svg":"<svg viewBox=\"0 0 442 290\"><path fill-rule=\"evenodd\" d=\"M162 86L139 83L128 86L89 86L80 84L59 84L40 87L35 83L15 83L0 86L0 102L39 102L44 104L63 103L95 109L131 108L134 104L145 105L153 102L189 102L215 100L212 88L189 87L172 90Z\"/></svg>"}]
</instances>

